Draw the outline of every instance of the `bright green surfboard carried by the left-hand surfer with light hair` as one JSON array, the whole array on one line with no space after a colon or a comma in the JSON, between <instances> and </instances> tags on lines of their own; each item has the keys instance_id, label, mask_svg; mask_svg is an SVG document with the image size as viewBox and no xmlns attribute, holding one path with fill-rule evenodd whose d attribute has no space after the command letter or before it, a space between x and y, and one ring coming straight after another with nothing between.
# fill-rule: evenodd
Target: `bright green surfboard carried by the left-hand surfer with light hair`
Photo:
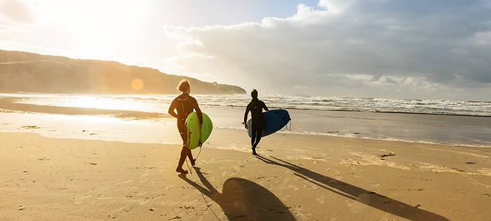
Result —
<instances>
[{"instance_id":1,"label":"bright green surfboard carried by the left-hand surfer with light hair","mask_svg":"<svg viewBox=\"0 0 491 221\"><path fill-rule=\"evenodd\" d=\"M199 129L199 118L196 112L192 112L186 119L187 127L187 148L194 149L201 147L203 143L210 137L213 130L213 123L208 115L203 113L203 128Z\"/></svg>"}]
</instances>

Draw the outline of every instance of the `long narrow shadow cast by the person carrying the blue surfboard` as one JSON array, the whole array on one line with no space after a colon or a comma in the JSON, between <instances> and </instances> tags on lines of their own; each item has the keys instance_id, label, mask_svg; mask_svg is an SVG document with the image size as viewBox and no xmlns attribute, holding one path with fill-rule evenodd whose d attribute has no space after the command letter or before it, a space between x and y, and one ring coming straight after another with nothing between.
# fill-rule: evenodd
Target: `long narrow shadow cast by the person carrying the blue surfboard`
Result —
<instances>
[{"instance_id":1,"label":"long narrow shadow cast by the person carrying the blue surfboard","mask_svg":"<svg viewBox=\"0 0 491 221\"><path fill-rule=\"evenodd\" d=\"M274 156L271 156L271 158L276 159L276 161L267 159L263 156L256 157L257 159L260 159L265 163L274 164L276 166L283 166L284 168L295 171L295 175L309 182L312 182L319 187L323 187L324 189L328 189L331 192L334 192L341 196L345 196L349 199L365 203L367 206L377 208L386 213L392 213L408 220L448 220L441 215L416 208L415 206L410 206L401 201L390 199L386 196L382 196L366 189L361 189L360 187L350 185L346 182L329 178L320 173L316 173L314 171L307 170L306 168L296 166L295 164L288 163L287 161L277 159Z\"/></svg>"}]
</instances>

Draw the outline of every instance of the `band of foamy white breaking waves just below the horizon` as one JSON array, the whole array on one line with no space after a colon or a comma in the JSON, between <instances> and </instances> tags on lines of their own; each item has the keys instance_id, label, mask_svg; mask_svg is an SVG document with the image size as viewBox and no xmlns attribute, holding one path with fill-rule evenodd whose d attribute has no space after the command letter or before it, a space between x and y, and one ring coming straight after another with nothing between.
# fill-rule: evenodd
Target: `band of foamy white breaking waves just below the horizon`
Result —
<instances>
[{"instance_id":1,"label":"band of foamy white breaking waves just below the horizon","mask_svg":"<svg viewBox=\"0 0 491 221\"><path fill-rule=\"evenodd\" d=\"M20 98L18 102L61 107L94 107L143 112L162 112L175 95L62 95L18 93L0 94ZM245 107L249 95L194 95L200 105ZM491 102L465 100L418 100L395 98L342 98L304 95L262 95L269 107L283 109L313 109L349 112L393 112L411 114L440 114L491 116Z\"/></svg>"}]
</instances>

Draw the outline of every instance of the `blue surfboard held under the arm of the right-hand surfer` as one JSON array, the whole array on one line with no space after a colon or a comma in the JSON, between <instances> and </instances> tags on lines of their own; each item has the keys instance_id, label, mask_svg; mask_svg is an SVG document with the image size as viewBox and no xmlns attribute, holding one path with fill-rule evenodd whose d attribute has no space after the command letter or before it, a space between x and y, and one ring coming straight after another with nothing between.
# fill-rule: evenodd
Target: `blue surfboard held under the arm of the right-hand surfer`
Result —
<instances>
[{"instance_id":1,"label":"blue surfboard held under the arm of the right-hand surfer","mask_svg":"<svg viewBox=\"0 0 491 221\"><path fill-rule=\"evenodd\" d=\"M263 112L264 123L262 123L262 135L261 137L275 133L281 128L285 127L290 122L290 114L285 109L270 109L267 112ZM252 138L253 133L250 131L251 119L247 121L247 133L249 138Z\"/></svg>"}]
</instances>

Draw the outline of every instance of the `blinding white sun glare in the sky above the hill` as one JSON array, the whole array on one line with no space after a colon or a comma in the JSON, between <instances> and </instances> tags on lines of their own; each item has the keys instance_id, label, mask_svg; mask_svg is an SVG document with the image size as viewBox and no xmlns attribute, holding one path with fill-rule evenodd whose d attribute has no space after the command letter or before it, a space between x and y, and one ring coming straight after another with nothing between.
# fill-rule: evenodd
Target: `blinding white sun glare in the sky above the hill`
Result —
<instances>
[{"instance_id":1,"label":"blinding white sun glare in the sky above the hill","mask_svg":"<svg viewBox=\"0 0 491 221\"><path fill-rule=\"evenodd\" d=\"M60 25L79 51L115 51L142 36L149 6L144 1L49 1L43 20Z\"/></svg>"}]
</instances>

